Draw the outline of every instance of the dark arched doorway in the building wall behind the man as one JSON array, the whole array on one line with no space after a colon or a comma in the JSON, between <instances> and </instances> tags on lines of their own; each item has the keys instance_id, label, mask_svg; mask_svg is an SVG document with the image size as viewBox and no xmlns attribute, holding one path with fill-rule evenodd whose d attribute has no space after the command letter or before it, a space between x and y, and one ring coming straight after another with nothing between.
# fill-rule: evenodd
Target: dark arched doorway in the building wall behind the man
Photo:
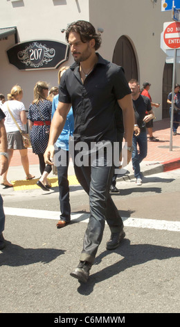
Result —
<instances>
[{"instance_id":1,"label":"dark arched doorway in the building wall behind the man","mask_svg":"<svg viewBox=\"0 0 180 327\"><path fill-rule=\"evenodd\" d=\"M124 68L127 81L130 79L138 80L136 55L131 42L125 35L120 36L116 43L112 62Z\"/></svg>"}]
</instances>

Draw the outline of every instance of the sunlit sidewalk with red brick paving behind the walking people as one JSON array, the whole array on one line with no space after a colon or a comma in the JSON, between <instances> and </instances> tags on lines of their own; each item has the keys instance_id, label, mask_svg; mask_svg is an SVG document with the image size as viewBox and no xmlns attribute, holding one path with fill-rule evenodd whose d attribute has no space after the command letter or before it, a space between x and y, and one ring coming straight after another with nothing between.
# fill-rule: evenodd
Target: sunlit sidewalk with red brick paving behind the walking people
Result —
<instances>
[{"instance_id":1,"label":"sunlit sidewalk with red brick paving behind the walking people","mask_svg":"<svg viewBox=\"0 0 180 327\"><path fill-rule=\"evenodd\" d=\"M177 136L172 136L172 151L170 151L170 119L154 121L153 135L159 138L159 142L150 142L147 135L147 157L141 163L141 172L143 175L152 175L166 170L180 168L180 127L177 130ZM19 151L14 151L10 168L8 170L8 180L12 181L14 190L21 188L36 189L37 180L40 177L39 159L33 154L31 148L28 149L28 159L30 163L30 173L35 175L34 180L26 181L24 170L21 166ZM127 170L123 175L118 175L118 180L134 177L132 162L129 163ZM57 176L49 175L52 186L57 186ZM78 184L73 170L73 163L69 165L69 184ZM3 186L1 186L3 188Z\"/></svg>"}]
</instances>

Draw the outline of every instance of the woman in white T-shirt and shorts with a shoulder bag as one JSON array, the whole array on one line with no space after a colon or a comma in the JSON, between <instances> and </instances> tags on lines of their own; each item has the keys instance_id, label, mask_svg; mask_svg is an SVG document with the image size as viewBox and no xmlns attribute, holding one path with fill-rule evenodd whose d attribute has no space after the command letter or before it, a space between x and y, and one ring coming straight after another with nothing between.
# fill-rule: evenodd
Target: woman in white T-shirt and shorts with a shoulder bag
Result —
<instances>
[{"instance_id":1,"label":"woman in white T-shirt and shorts with a shoulder bag","mask_svg":"<svg viewBox=\"0 0 180 327\"><path fill-rule=\"evenodd\" d=\"M27 118L25 106L21 102L21 99L23 97L23 90L21 86L13 86L12 90L10 91L10 94L8 94L7 97L8 101L3 104L2 110L3 113L5 113L6 115L4 125L6 127L6 133L8 138L8 161L10 164L10 160L12 159L14 150L19 150L19 153L21 155L21 163L26 173L26 180L31 180L35 176L29 173L28 149L24 147L21 133L8 110L10 109L20 129L26 132L24 125L27 122ZM6 173L2 175L1 185L6 187L12 187L13 185L7 180L7 174L8 170L6 170Z\"/></svg>"}]
</instances>

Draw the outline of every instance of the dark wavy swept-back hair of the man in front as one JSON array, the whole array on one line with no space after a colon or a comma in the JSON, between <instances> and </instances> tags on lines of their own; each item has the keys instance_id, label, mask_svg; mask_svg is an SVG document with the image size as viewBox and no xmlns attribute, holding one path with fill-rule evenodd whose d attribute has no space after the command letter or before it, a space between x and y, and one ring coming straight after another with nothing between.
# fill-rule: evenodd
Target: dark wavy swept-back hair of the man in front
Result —
<instances>
[{"instance_id":1,"label":"dark wavy swept-back hair of the man in front","mask_svg":"<svg viewBox=\"0 0 180 327\"><path fill-rule=\"evenodd\" d=\"M69 41L69 33L76 32L80 34L80 39L83 43L94 39L95 40L95 50L98 50L101 45L101 36L96 33L96 29L93 25L85 20L78 20L67 26L66 29L66 41Z\"/></svg>"}]
</instances>

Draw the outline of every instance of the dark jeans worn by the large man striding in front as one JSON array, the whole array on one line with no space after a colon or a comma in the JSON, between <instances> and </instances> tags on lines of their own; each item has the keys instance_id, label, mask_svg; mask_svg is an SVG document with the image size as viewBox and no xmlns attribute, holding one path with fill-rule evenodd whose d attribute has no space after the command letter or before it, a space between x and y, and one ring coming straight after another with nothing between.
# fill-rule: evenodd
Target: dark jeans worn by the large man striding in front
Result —
<instances>
[{"instance_id":1,"label":"dark jeans worn by the large man striding in front","mask_svg":"<svg viewBox=\"0 0 180 327\"><path fill-rule=\"evenodd\" d=\"M83 249L80 260L93 264L102 240L105 221L111 232L119 232L123 229L123 221L109 196L109 187L114 174L114 165L107 166L78 166L74 163L75 175L84 191L89 194L90 216L87 230L84 234Z\"/></svg>"}]
</instances>

